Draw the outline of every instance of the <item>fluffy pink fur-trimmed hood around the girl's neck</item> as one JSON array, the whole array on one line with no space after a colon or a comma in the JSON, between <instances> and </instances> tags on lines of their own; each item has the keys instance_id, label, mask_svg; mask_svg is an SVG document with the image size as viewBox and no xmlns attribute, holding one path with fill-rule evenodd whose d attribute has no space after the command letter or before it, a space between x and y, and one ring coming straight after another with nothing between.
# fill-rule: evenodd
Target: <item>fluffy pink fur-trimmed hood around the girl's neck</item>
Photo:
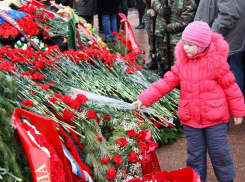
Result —
<instances>
[{"instance_id":1,"label":"fluffy pink fur-trimmed hood around the girl's neck","mask_svg":"<svg viewBox=\"0 0 245 182\"><path fill-rule=\"evenodd\" d=\"M212 32L211 43L204 53L195 57L188 57L184 51L184 42L182 40L177 43L174 53L177 61L180 61L182 64L189 59L197 59L201 62L205 62L207 68L213 69L219 67L222 62L227 61L229 45L221 34Z\"/></svg>"}]
</instances>

